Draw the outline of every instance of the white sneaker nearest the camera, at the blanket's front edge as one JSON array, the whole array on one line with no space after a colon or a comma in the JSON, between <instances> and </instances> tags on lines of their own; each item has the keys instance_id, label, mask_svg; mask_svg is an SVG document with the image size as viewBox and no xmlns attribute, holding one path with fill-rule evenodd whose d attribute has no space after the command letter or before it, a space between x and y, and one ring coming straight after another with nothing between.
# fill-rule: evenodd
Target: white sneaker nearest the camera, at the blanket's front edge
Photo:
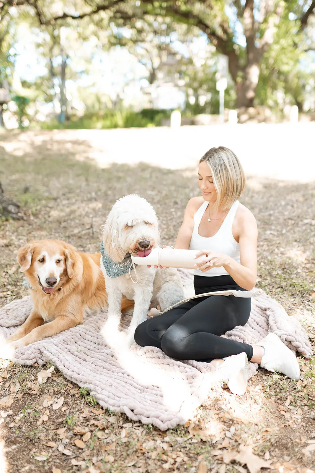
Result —
<instances>
[{"instance_id":1,"label":"white sneaker nearest the camera, at the blanket's front edge","mask_svg":"<svg viewBox=\"0 0 315 473\"><path fill-rule=\"evenodd\" d=\"M245 351L224 358L224 362L217 368L217 374L222 381L228 383L231 393L244 394L249 378L249 365Z\"/></svg>"}]
</instances>

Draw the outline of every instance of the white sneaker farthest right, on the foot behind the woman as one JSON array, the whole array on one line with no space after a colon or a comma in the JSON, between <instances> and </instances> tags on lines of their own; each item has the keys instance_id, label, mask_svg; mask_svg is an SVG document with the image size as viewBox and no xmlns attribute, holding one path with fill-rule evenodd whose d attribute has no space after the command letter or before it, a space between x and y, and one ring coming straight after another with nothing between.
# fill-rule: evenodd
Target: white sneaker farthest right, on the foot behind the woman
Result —
<instances>
[{"instance_id":1,"label":"white sneaker farthest right, on the foot behind the woman","mask_svg":"<svg viewBox=\"0 0 315 473\"><path fill-rule=\"evenodd\" d=\"M300 379L300 368L296 355L281 342L275 333L268 333L259 345L264 347L265 350L265 355L260 363L262 368L283 373L295 381Z\"/></svg>"}]
</instances>

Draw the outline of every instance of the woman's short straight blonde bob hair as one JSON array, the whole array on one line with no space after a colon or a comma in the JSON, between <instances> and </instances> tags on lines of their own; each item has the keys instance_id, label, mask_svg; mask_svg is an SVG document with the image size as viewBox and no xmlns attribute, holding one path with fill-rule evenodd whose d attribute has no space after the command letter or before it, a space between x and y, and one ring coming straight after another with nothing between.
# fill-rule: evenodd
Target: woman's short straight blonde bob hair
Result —
<instances>
[{"instance_id":1,"label":"woman's short straight blonde bob hair","mask_svg":"<svg viewBox=\"0 0 315 473\"><path fill-rule=\"evenodd\" d=\"M245 187L245 175L237 156L229 148L211 148L200 159L212 170L213 184L217 192L214 209L227 210L238 200Z\"/></svg>"}]
</instances>

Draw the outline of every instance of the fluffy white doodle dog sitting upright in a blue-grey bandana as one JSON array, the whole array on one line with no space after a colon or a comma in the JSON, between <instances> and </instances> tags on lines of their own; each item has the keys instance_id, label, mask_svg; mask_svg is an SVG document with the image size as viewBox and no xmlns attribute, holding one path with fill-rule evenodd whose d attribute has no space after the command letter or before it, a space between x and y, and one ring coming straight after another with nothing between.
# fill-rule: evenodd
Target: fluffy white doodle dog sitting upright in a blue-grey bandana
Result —
<instances>
[{"instance_id":1,"label":"fluffy white doodle dog sitting upright in a blue-grey bandana","mask_svg":"<svg viewBox=\"0 0 315 473\"><path fill-rule=\"evenodd\" d=\"M123 295L135 301L128 333L129 345L134 341L137 325L147 318L150 306L159 305L164 310L184 299L175 268L155 270L153 266L138 265L136 271L129 271L132 264L130 254L146 256L158 246L159 240L158 220L148 201L131 194L115 202L106 223L102 225L101 269L109 306L102 332L107 333L107 338L113 330L118 330Z\"/></svg>"}]
</instances>

